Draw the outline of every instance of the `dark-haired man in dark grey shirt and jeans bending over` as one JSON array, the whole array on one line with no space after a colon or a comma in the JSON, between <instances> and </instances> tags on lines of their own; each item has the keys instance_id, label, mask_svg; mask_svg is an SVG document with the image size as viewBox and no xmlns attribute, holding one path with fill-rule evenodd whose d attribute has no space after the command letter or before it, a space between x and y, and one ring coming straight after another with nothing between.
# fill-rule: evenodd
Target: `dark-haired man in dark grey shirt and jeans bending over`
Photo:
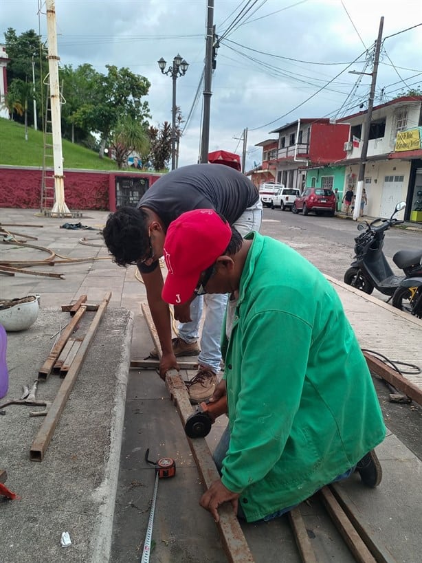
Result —
<instances>
[{"instance_id":1,"label":"dark-haired man in dark grey shirt and jeans bending over","mask_svg":"<svg viewBox=\"0 0 422 563\"><path fill-rule=\"evenodd\" d=\"M109 216L104 241L118 265L137 264L146 288L151 316L162 347L161 377L178 368L177 357L198 355L199 371L188 383L192 403L205 401L214 393L220 371L221 324L227 296L197 296L182 305L175 301L175 318L180 321L177 338L172 340L168 305L162 300L164 284L158 259L163 256L166 230L183 212L209 208L221 213L241 234L259 230L262 203L252 181L229 166L194 164L164 175L146 190L137 208L120 208ZM203 305L200 345L199 324ZM157 351L151 356L158 357Z\"/></svg>"}]
</instances>

